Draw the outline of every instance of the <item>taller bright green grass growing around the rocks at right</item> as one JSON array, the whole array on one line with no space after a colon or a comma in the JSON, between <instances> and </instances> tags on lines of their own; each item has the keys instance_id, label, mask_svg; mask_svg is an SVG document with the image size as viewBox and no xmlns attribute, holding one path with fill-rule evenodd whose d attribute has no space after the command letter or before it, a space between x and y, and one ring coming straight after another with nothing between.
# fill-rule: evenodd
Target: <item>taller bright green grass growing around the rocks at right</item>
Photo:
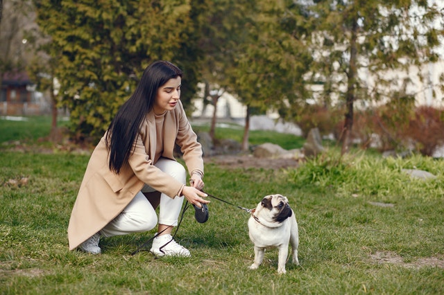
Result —
<instances>
[{"instance_id":1,"label":"taller bright green grass growing around the rocks at right","mask_svg":"<svg viewBox=\"0 0 444 295\"><path fill-rule=\"evenodd\" d=\"M411 179L403 169L420 169L437 175L437 179ZM364 153L347 154L330 149L314 159L301 163L289 172L296 186L316 186L325 192L343 197L375 197L384 202L408 199L427 193L422 198L441 198L444 195L444 161L413 156L407 159L370 157Z\"/></svg>"}]
</instances>

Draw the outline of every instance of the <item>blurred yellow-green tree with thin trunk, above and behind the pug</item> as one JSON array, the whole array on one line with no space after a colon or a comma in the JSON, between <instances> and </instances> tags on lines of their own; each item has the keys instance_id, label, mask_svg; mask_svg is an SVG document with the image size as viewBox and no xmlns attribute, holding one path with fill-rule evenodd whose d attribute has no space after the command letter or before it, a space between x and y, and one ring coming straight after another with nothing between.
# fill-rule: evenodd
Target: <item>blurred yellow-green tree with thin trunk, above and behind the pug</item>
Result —
<instances>
[{"instance_id":1,"label":"blurred yellow-green tree with thin trunk, above and behind the pug","mask_svg":"<svg viewBox=\"0 0 444 295\"><path fill-rule=\"evenodd\" d=\"M236 55L230 85L247 106L242 149L248 150L249 118L254 112L278 109L304 101L303 74L311 56L302 38L304 11L293 1L242 1L234 21Z\"/></svg>"}]
</instances>

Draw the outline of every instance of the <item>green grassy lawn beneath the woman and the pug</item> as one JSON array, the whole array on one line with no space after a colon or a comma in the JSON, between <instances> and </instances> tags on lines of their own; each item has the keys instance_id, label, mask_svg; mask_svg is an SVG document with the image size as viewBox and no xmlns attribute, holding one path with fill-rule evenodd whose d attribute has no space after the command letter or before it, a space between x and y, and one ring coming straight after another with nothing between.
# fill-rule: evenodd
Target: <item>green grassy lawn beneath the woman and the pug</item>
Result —
<instances>
[{"instance_id":1,"label":"green grassy lawn beneath the woman and the pug","mask_svg":"<svg viewBox=\"0 0 444 295\"><path fill-rule=\"evenodd\" d=\"M8 126L16 135L0 134L0 143L29 128ZM259 135L252 132L252 141L260 143ZM266 136L278 144L289 138ZM300 147L300 138L294 142L285 148ZM330 148L298 169L205 166L205 189L228 202L253 208L264 195L289 197L300 266L289 262L287 274L278 275L275 250L259 269L248 269L254 255L249 215L215 199L205 224L194 220L192 209L185 213L176 240L191 258L131 256L155 231L102 239L99 256L68 251L69 215L88 159L0 150L0 294L444 293L442 160L354 152L339 161ZM411 179L403 168L437 177Z\"/></svg>"}]
</instances>

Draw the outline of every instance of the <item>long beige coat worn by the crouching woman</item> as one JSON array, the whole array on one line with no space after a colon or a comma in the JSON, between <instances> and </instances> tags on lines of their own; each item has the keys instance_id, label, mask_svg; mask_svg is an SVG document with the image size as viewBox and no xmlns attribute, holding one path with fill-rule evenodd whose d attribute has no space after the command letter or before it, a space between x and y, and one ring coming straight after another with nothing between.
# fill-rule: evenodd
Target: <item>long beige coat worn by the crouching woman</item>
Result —
<instances>
[{"instance_id":1,"label":"long beige coat worn by the crouching woman","mask_svg":"<svg viewBox=\"0 0 444 295\"><path fill-rule=\"evenodd\" d=\"M202 148L182 103L165 115L162 157L174 159L175 143L181 147L189 173L194 170L203 173ZM129 165L123 166L116 175L108 168L105 136L101 138L89 159L69 220L70 250L76 249L119 215L144 184L172 198L178 195L183 184L153 166L155 146L155 118L150 112L140 127L135 150L128 159Z\"/></svg>"}]
</instances>

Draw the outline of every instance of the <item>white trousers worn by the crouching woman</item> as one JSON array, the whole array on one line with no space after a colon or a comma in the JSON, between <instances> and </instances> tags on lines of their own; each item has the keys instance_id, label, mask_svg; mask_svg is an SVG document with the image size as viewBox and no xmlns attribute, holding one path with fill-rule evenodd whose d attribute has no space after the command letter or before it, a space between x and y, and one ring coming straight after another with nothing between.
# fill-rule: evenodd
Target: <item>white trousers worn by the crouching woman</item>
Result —
<instances>
[{"instance_id":1,"label":"white trousers worn by the crouching woman","mask_svg":"<svg viewBox=\"0 0 444 295\"><path fill-rule=\"evenodd\" d=\"M182 164L165 158L160 158L155 166L171 175L182 184L187 180L187 172ZM104 237L113 235L126 235L128 233L142 233L151 231L157 224L157 214L151 203L143 193L151 193L155 190L145 185L133 200L107 224L100 233ZM174 199L164 193L160 194L159 204L159 224L177 226L178 217L182 208L184 197L176 196Z\"/></svg>"}]
</instances>

